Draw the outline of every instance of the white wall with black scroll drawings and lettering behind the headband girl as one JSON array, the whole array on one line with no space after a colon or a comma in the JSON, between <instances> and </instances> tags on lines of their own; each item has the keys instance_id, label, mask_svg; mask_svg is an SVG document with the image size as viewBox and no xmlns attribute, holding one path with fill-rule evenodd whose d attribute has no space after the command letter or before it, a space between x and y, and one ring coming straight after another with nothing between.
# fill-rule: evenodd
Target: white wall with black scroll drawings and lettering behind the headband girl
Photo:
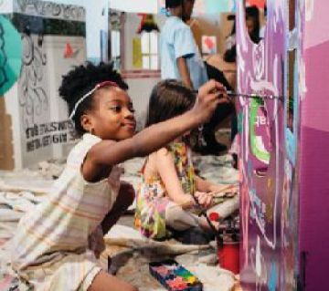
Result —
<instances>
[{"instance_id":1,"label":"white wall with black scroll drawings and lettering behind the headband girl","mask_svg":"<svg viewBox=\"0 0 329 291\"><path fill-rule=\"evenodd\" d=\"M67 43L74 52L70 58L64 57ZM12 117L16 169L66 157L73 128L69 127L67 105L58 97L58 86L62 75L86 57L85 39L80 36L45 36L42 46L37 36L25 36L23 51L21 76L5 94L5 108ZM34 55L27 54L31 51ZM61 122L66 128L54 130L51 122Z\"/></svg>"}]
</instances>

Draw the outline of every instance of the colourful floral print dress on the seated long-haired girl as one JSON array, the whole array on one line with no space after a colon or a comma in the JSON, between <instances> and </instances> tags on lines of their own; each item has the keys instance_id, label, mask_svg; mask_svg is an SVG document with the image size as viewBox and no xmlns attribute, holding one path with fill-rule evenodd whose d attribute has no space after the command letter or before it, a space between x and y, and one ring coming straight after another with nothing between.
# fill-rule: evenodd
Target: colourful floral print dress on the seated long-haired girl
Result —
<instances>
[{"instance_id":1,"label":"colourful floral print dress on the seated long-haired girl","mask_svg":"<svg viewBox=\"0 0 329 291\"><path fill-rule=\"evenodd\" d=\"M185 142L172 142L167 147L173 155L178 178L186 194L196 192L195 171L191 159L191 150ZM147 237L161 240L170 236L165 227L165 209L172 200L168 197L164 182L159 175L144 177L137 190L137 205L135 212L135 226Z\"/></svg>"}]
</instances>

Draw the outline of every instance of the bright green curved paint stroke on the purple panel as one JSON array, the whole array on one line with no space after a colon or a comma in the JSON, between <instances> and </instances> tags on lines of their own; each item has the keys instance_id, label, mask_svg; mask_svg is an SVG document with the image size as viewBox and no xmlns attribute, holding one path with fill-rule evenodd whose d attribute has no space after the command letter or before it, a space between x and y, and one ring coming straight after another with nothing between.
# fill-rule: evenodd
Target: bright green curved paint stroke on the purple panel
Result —
<instances>
[{"instance_id":1,"label":"bright green curved paint stroke on the purple panel","mask_svg":"<svg viewBox=\"0 0 329 291\"><path fill-rule=\"evenodd\" d=\"M250 128L250 148L252 154L260 161L270 162L271 154L267 151L261 151L257 147L256 133L255 133L255 123L257 120L257 113L260 106L263 105L261 99L255 98L250 102L250 118L249 118L249 128Z\"/></svg>"}]
</instances>

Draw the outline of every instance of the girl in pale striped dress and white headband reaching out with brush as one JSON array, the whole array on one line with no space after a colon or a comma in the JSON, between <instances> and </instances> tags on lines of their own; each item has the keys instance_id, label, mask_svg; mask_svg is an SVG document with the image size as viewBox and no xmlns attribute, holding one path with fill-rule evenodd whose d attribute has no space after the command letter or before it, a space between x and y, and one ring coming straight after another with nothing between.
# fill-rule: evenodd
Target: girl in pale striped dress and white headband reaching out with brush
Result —
<instances>
[{"instance_id":1,"label":"girl in pale striped dress and white headband reaching out with brush","mask_svg":"<svg viewBox=\"0 0 329 291\"><path fill-rule=\"evenodd\" d=\"M207 83L193 109L135 136L126 89L111 65L80 66L63 78L59 93L83 137L70 151L48 201L18 224L12 266L20 290L136 290L101 271L96 259L102 234L133 202L133 187L120 182L116 165L156 151L205 122L219 102L219 93L209 92L222 93L223 87ZM96 243L96 252L90 251L89 242Z\"/></svg>"}]
</instances>

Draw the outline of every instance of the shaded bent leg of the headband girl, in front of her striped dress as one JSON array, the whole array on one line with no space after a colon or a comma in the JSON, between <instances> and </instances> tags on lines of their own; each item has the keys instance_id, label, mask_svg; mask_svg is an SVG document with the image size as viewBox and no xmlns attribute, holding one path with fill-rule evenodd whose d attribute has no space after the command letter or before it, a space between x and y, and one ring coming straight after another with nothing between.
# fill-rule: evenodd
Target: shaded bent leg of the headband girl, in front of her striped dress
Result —
<instances>
[{"instance_id":1,"label":"shaded bent leg of the headband girl, in front of her striped dress","mask_svg":"<svg viewBox=\"0 0 329 291\"><path fill-rule=\"evenodd\" d=\"M135 192L133 190L133 186L128 182L122 182L117 200L113 204L111 212L107 213L101 223L103 234L107 234L113 224L115 224L119 220L120 216L122 216L122 213L124 213L127 208L132 205L134 195Z\"/></svg>"}]
</instances>

